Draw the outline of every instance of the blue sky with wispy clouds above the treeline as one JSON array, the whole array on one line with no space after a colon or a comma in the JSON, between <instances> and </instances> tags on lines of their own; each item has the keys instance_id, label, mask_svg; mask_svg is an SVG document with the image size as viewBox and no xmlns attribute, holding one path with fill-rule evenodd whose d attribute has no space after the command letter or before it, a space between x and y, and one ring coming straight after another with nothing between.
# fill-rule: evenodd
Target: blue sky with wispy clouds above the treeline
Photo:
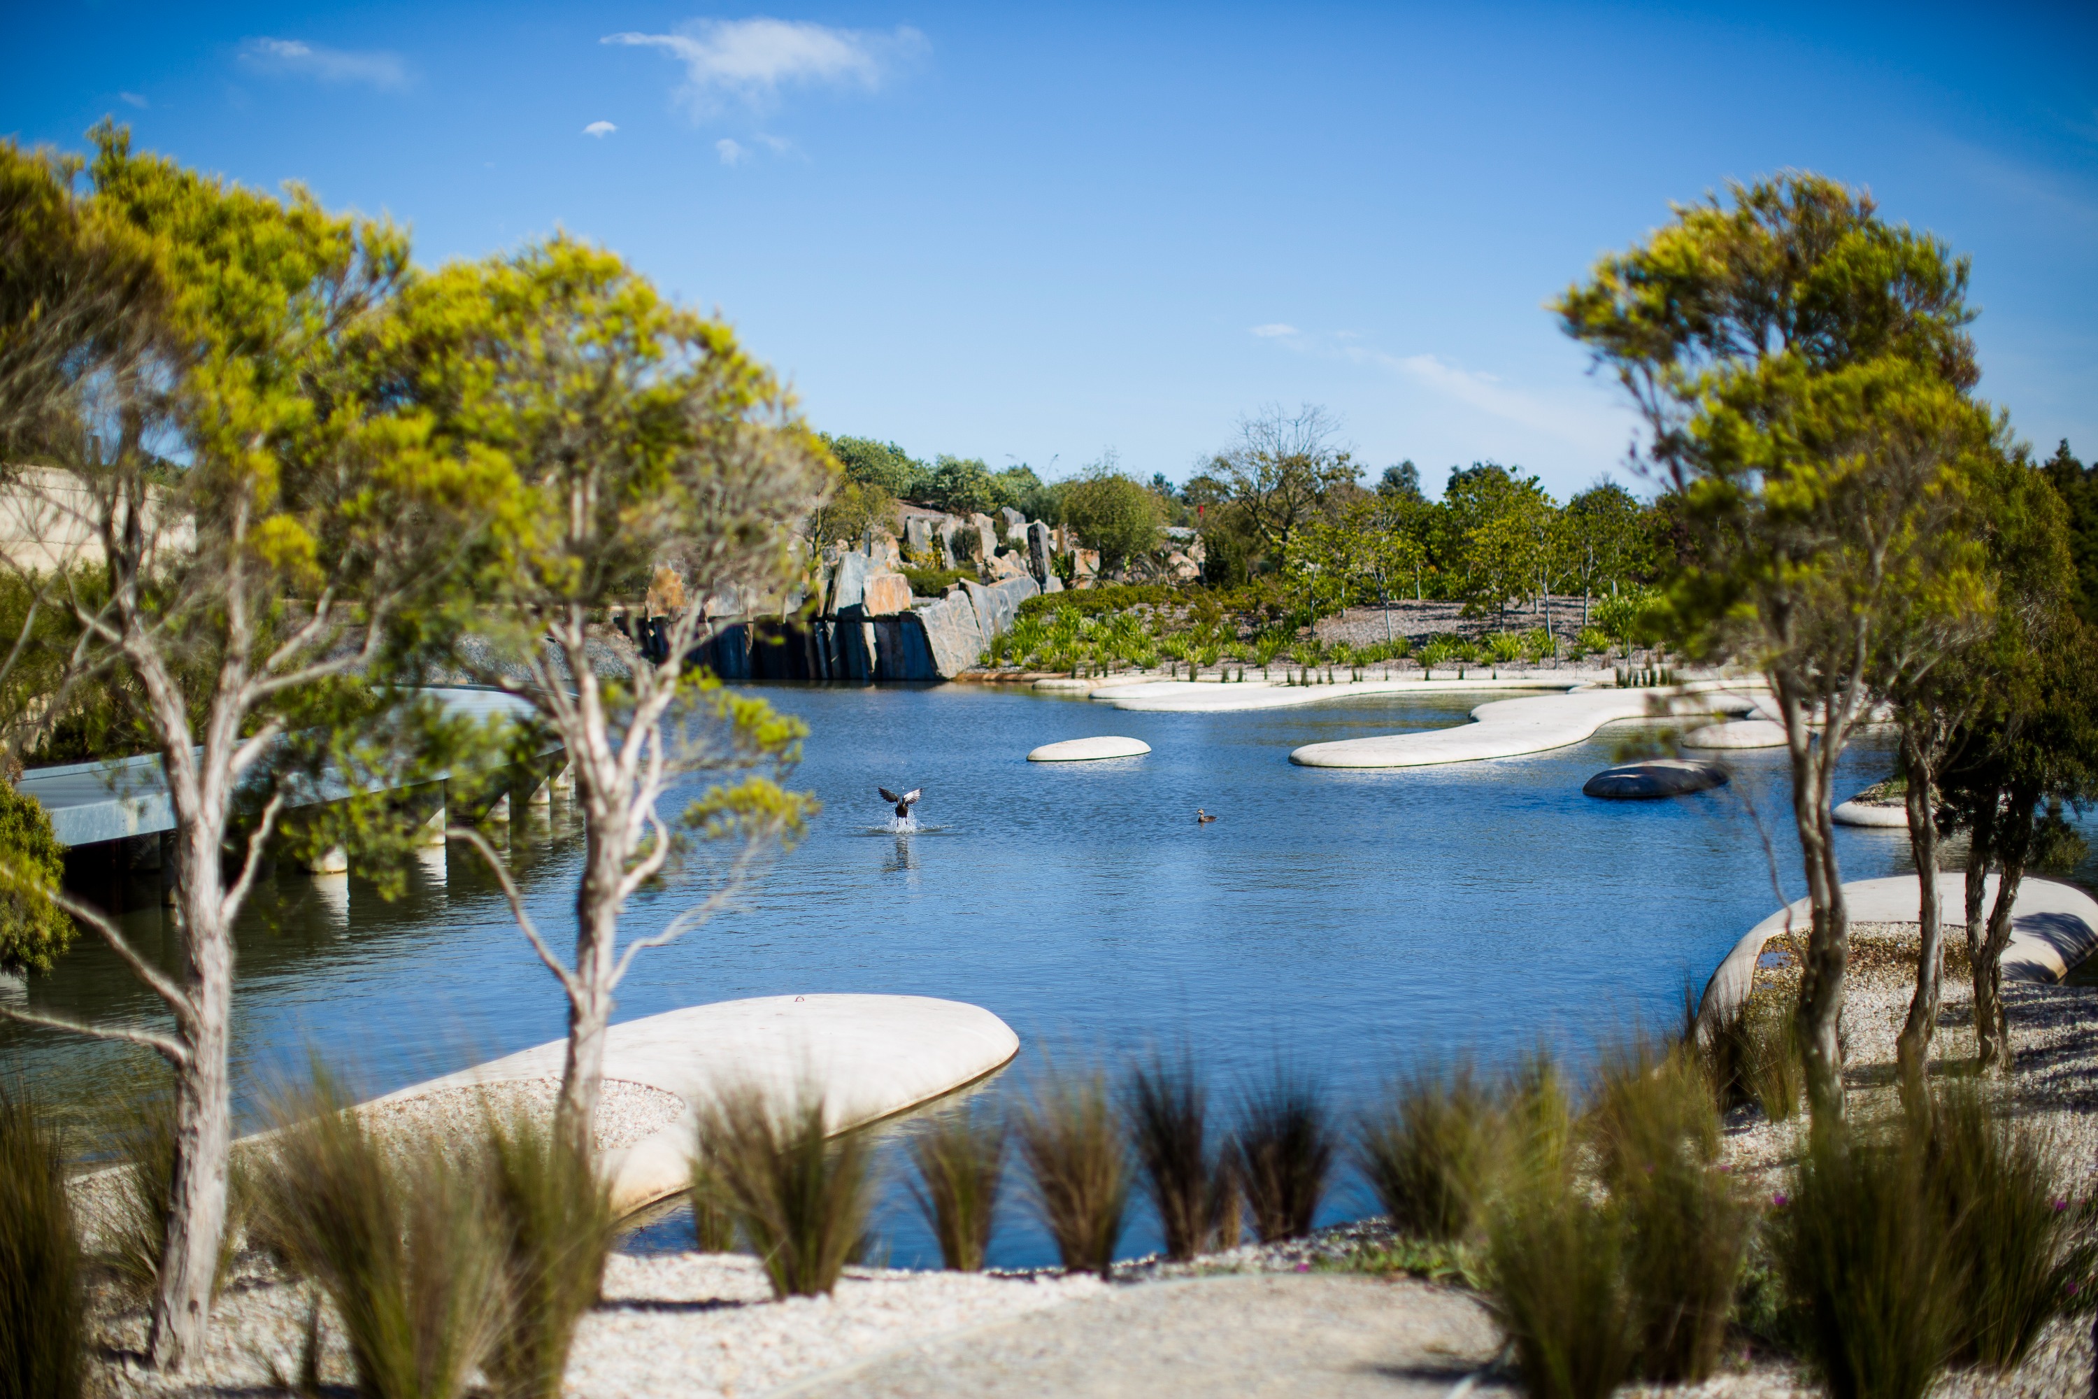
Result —
<instances>
[{"instance_id":1,"label":"blue sky with wispy clouds above the treeline","mask_svg":"<svg viewBox=\"0 0 2098 1399\"><path fill-rule=\"evenodd\" d=\"M1563 495L1632 419L1542 302L1787 166L1970 254L1983 392L2098 455L2092 8L8 8L0 132L113 113L424 262L585 235L925 457L1185 478L1320 403Z\"/></svg>"}]
</instances>

